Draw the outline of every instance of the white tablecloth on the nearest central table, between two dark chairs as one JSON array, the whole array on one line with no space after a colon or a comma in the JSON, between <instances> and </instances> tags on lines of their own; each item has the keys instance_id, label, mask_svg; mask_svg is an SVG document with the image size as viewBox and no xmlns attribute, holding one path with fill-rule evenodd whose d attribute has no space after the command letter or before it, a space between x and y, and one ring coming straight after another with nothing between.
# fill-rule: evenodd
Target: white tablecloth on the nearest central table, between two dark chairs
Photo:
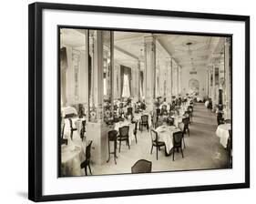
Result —
<instances>
[{"instance_id":1,"label":"white tablecloth on the nearest central table, between two dark chairs","mask_svg":"<svg viewBox=\"0 0 256 204\"><path fill-rule=\"evenodd\" d=\"M159 141L162 141L165 143L167 153L169 153L171 148L173 148L173 143L172 143L173 133L179 132L179 131L180 129L174 126L160 126L159 128L156 128L156 132L158 132L158 135L159 135Z\"/></svg>"}]
</instances>

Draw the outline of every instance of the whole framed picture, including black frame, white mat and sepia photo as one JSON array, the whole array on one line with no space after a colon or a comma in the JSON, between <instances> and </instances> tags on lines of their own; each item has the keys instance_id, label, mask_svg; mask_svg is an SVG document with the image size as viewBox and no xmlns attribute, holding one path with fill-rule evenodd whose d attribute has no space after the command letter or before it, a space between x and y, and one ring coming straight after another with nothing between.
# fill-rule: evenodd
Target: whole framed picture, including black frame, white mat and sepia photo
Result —
<instances>
[{"instance_id":1,"label":"whole framed picture, including black frame, white mat and sepia photo","mask_svg":"<svg viewBox=\"0 0 256 204\"><path fill-rule=\"evenodd\" d=\"M250 17L29 5L29 199L250 186Z\"/></svg>"}]
</instances>

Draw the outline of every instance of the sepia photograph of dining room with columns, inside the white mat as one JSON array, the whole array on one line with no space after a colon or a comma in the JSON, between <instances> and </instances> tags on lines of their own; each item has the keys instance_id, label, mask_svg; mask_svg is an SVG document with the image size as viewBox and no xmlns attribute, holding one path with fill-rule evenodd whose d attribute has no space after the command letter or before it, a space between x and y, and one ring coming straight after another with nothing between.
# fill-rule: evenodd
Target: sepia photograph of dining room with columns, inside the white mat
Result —
<instances>
[{"instance_id":1,"label":"sepia photograph of dining room with columns, inside the white mat","mask_svg":"<svg viewBox=\"0 0 256 204\"><path fill-rule=\"evenodd\" d=\"M58 27L59 177L232 168L231 36Z\"/></svg>"}]
</instances>

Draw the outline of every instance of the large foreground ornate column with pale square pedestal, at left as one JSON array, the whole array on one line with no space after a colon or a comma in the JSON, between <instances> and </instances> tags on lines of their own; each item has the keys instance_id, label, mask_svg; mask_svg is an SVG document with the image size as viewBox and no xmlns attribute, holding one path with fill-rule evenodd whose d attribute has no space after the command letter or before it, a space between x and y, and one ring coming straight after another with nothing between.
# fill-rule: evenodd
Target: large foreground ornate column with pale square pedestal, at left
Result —
<instances>
[{"instance_id":1,"label":"large foreground ornate column with pale square pedestal, at left","mask_svg":"<svg viewBox=\"0 0 256 204\"><path fill-rule=\"evenodd\" d=\"M93 140L91 159L99 165L105 163L108 159L108 127L103 121L103 32L106 31L96 30L93 35L91 75L93 88L89 120L87 121L87 139Z\"/></svg>"}]
</instances>

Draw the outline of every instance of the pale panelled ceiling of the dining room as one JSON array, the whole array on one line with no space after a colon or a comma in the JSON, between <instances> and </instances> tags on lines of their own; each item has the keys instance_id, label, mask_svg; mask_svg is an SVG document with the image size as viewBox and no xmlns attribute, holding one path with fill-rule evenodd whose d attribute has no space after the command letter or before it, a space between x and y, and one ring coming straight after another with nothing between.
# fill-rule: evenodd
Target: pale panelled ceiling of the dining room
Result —
<instances>
[{"instance_id":1,"label":"pale panelled ceiling of the dining room","mask_svg":"<svg viewBox=\"0 0 256 204\"><path fill-rule=\"evenodd\" d=\"M182 68L206 68L213 53L221 52L224 37L185 36L170 34L150 34L136 32L114 32L114 57L118 63L136 66L138 59L143 61L144 37L154 35L157 39L157 63L163 63L172 56ZM104 41L109 41L104 35ZM61 29L61 46L76 49L86 48L85 30ZM190 46L187 44L191 43Z\"/></svg>"}]
</instances>

